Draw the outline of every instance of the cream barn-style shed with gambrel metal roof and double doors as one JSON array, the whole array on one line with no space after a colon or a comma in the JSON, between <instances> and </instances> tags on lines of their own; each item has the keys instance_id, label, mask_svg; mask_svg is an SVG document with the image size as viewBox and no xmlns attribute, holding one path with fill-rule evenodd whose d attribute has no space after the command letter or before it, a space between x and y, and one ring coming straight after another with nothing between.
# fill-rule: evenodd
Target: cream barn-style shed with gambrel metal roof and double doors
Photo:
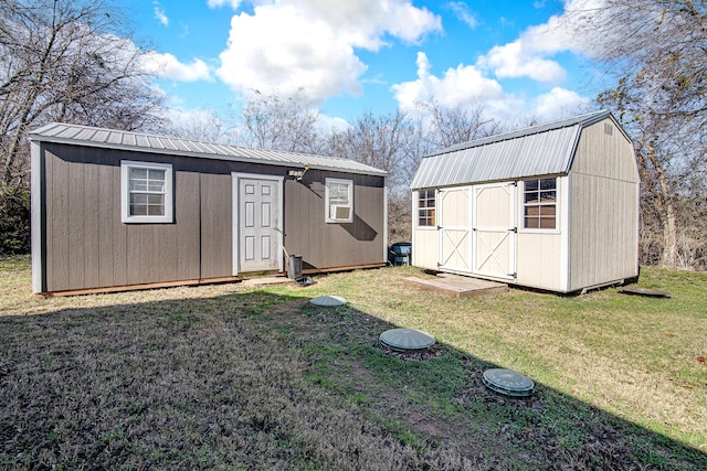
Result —
<instances>
[{"instance_id":1,"label":"cream barn-style shed with gambrel metal roof and double doors","mask_svg":"<svg viewBox=\"0 0 707 471\"><path fill-rule=\"evenodd\" d=\"M558 292L639 275L639 172L609 111L445 149L411 188L418 267Z\"/></svg>"}]
</instances>

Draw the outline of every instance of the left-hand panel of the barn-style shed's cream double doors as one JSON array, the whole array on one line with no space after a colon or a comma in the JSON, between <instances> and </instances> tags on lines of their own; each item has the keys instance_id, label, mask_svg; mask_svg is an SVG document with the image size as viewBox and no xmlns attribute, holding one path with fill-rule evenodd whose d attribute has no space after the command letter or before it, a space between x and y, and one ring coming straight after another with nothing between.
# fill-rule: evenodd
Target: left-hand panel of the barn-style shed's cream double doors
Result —
<instances>
[{"instance_id":1,"label":"left-hand panel of the barn-style shed's cream double doors","mask_svg":"<svg viewBox=\"0 0 707 471\"><path fill-rule=\"evenodd\" d=\"M440 190L437 193L440 268L471 272L469 188Z\"/></svg>"}]
</instances>

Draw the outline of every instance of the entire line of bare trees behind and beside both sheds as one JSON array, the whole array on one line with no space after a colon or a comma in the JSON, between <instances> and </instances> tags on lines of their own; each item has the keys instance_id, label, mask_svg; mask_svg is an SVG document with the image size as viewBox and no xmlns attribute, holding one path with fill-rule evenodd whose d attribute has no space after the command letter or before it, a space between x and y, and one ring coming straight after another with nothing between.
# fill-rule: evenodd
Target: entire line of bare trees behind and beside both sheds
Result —
<instances>
[{"instance_id":1,"label":"entire line of bare trees behind and beside both sheds","mask_svg":"<svg viewBox=\"0 0 707 471\"><path fill-rule=\"evenodd\" d=\"M594 66L611 85L595 106L612 110L634 141L642 265L707 269L706 10L692 0L603 0L592 14L574 12L574 28L601 38ZM0 0L0 255L30 249L27 136L52 121L368 163L391 175L393 242L410 237L409 183L424 156L510 130L483 103L450 108L434 97L413 114L369 111L325 129L306 89L254 92L236 116L204 111L176 124L136 44L107 0Z\"/></svg>"}]
</instances>

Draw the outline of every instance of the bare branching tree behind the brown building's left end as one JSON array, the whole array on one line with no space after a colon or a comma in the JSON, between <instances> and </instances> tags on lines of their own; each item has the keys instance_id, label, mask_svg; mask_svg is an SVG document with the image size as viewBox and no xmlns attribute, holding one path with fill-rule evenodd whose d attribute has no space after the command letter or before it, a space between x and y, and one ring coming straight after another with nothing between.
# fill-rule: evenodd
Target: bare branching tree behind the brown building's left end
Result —
<instances>
[{"instance_id":1,"label":"bare branching tree behind the brown building's left end","mask_svg":"<svg viewBox=\"0 0 707 471\"><path fill-rule=\"evenodd\" d=\"M103 0L0 1L0 186L27 185L25 136L46 122L154 128L161 96Z\"/></svg>"}]
</instances>

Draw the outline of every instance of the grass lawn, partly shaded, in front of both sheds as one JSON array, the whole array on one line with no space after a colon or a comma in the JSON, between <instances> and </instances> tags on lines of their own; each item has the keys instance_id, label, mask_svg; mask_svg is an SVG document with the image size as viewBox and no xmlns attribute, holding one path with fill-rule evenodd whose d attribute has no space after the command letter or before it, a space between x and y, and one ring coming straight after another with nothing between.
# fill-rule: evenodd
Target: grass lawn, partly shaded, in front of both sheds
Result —
<instances>
[{"instance_id":1,"label":"grass lawn, partly shaded, in front of both sheds","mask_svg":"<svg viewBox=\"0 0 707 471\"><path fill-rule=\"evenodd\" d=\"M707 275L642 269L671 299L409 276L45 299L2 261L0 469L707 469ZM437 343L387 352L394 327ZM488 392L488 367L536 394Z\"/></svg>"}]
</instances>

